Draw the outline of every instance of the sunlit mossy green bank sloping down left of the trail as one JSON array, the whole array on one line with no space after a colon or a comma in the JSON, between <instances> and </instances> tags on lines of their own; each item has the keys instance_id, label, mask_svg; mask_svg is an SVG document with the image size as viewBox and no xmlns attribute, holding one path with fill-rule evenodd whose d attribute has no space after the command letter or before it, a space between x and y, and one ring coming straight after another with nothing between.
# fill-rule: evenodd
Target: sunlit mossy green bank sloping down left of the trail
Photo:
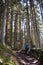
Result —
<instances>
[{"instance_id":1,"label":"sunlit mossy green bank sloping down left of the trail","mask_svg":"<svg viewBox=\"0 0 43 65\"><path fill-rule=\"evenodd\" d=\"M0 45L0 65L18 65L15 54L15 51Z\"/></svg>"}]
</instances>

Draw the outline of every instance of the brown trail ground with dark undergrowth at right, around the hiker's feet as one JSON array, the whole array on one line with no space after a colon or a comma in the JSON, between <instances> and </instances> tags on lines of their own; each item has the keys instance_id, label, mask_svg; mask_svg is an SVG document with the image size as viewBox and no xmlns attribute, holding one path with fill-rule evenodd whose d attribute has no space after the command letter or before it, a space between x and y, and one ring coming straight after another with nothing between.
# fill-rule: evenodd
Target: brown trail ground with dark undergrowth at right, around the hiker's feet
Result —
<instances>
[{"instance_id":1,"label":"brown trail ground with dark undergrowth at right, around the hiker's feet","mask_svg":"<svg viewBox=\"0 0 43 65\"><path fill-rule=\"evenodd\" d=\"M43 51L41 49L31 49L29 54L24 51L16 53L19 65L43 65Z\"/></svg>"}]
</instances>

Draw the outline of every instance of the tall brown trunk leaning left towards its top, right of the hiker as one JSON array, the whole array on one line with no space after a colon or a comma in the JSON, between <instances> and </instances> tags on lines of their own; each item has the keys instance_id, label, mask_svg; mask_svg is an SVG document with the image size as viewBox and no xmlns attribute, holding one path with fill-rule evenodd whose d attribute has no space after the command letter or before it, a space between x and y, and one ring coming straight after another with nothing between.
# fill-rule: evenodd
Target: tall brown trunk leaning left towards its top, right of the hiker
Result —
<instances>
[{"instance_id":1,"label":"tall brown trunk leaning left towards its top, right of the hiker","mask_svg":"<svg viewBox=\"0 0 43 65\"><path fill-rule=\"evenodd\" d=\"M32 22L33 22L33 31L34 31L34 35L35 35L35 43L36 47L40 47L40 37L39 37L39 30L37 28L37 20L36 20L36 13L35 13L35 8L34 8L34 1L30 0L30 11L31 11L31 18L32 18Z\"/></svg>"}]
</instances>

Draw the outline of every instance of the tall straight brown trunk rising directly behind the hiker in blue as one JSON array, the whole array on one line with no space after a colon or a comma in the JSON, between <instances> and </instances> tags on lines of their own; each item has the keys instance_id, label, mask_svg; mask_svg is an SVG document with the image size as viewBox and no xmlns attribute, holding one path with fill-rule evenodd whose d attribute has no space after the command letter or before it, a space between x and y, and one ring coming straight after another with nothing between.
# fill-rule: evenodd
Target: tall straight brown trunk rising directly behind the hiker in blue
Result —
<instances>
[{"instance_id":1,"label":"tall straight brown trunk rising directly behind the hiker in blue","mask_svg":"<svg viewBox=\"0 0 43 65\"><path fill-rule=\"evenodd\" d=\"M28 12L28 1L26 0L26 19L27 19L27 42L29 43L30 46L32 46L32 39L30 36L30 20L29 20L29 12Z\"/></svg>"}]
</instances>

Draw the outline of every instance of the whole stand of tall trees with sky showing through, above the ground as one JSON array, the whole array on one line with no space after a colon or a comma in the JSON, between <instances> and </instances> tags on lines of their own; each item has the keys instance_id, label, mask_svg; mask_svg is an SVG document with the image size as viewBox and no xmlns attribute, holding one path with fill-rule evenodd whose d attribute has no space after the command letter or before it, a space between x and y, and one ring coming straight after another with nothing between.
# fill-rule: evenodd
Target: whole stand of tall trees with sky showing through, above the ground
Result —
<instances>
[{"instance_id":1,"label":"whole stand of tall trees with sky showing through, above the ground","mask_svg":"<svg viewBox=\"0 0 43 65\"><path fill-rule=\"evenodd\" d=\"M20 49L26 42L43 47L43 0L0 0L0 43Z\"/></svg>"}]
</instances>

